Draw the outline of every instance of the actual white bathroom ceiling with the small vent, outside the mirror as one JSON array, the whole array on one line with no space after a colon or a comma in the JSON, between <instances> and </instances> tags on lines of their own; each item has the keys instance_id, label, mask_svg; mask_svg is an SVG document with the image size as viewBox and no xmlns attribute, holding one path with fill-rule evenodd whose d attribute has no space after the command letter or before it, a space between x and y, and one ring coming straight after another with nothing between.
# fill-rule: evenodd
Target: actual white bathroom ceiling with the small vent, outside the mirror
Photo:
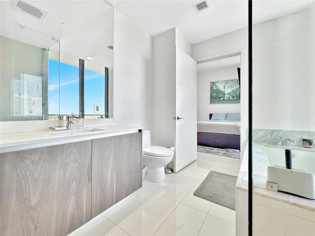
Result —
<instances>
[{"instance_id":1,"label":"actual white bathroom ceiling with the small vent, outside the mirror","mask_svg":"<svg viewBox=\"0 0 315 236\"><path fill-rule=\"evenodd\" d=\"M151 36L177 27L190 44L248 26L247 0L209 0L210 9L196 13L200 0L106 0ZM306 9L312 0L254 0L253 23Z\"/></svg>"}]
</instances>

